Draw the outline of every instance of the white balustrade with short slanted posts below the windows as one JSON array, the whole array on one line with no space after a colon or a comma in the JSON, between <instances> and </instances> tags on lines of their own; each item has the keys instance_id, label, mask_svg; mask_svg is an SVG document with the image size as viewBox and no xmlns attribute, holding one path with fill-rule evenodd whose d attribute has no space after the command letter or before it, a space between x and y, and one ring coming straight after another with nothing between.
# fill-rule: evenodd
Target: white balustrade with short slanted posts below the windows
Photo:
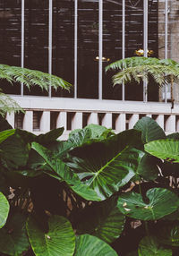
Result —
<instances>
[{"instance_id":1,"label":"white balustrade with short slanted posts below the windows","mask_svg":"<svg viewBox=\"0 0 179 256\"><path fill-rule=\"evenodd\" d=\"M63 139L67 139L71 130L81 129L86 124L100 123L107 128L113 126L115 132L123 132L126 128L132 129L145 115L153 117L166 133L179 132L179 105L171 108L170 103L17 96L13 99L26 111L23 129L37 134L48 132L51 123L56 128L64 127ZM39 131L36 132L33 131L33 111L41 113L38 117ZM50 120L50 116L55 119ZM14 115L8 114L6 119L14 127Z\"/></svg>"}]
</instances>

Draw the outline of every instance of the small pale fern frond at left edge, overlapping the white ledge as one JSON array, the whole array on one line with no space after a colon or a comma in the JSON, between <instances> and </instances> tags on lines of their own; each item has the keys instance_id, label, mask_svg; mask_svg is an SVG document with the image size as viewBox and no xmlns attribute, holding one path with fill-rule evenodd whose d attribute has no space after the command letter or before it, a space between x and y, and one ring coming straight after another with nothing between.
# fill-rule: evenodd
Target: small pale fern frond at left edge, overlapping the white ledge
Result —
<instances>
[{"instance_id":1,"label":"small pale fern frond at left edge, overlapping the white ledge","mask_svg":"<svg viewBox=\"0 0 179 256\"><path fill-rule=\"evenodd\" d=\"M0 92L0 115L5 116L6 113L19 113L23 112L23 109L17 104L13 98Z\"/></svg>"}]
</instances>

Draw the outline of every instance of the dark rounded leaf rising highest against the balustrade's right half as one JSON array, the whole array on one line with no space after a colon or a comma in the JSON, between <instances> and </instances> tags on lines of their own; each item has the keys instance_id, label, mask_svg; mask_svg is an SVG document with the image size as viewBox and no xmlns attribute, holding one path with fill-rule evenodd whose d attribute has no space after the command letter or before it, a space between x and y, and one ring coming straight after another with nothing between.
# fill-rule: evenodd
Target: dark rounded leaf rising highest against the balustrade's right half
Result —
<instances>
[{"instance_id":1,"label":"dark rounded leaf rising highest against the balustrade's right half","mask_svg":"<svg viewBox=\"0 0 179 256\"><path fill-rule=\"evenodd\" d=\"M141 139L143 143L166 138L165 132L158 123L148 116L142 117L133 128L141 131Z\"/></svg>"}]
</instances>

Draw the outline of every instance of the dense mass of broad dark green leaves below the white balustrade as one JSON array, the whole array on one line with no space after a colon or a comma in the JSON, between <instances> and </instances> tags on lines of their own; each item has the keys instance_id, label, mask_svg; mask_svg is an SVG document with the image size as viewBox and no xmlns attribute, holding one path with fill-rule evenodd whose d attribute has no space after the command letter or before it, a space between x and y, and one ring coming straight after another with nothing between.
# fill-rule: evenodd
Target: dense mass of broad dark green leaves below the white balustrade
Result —
<instances>
[{"instance_id":1,"label":"dense mass of broad dark green leaves below the white balustrade","mask_svg":"<svg viewBox=\"0 0 179 256\"><path fill-rule=\"evenodd\" d=\"M179 255L179 133L143 117L36 136L0 120L0 255Z\"/></svg>"}]
</instances>

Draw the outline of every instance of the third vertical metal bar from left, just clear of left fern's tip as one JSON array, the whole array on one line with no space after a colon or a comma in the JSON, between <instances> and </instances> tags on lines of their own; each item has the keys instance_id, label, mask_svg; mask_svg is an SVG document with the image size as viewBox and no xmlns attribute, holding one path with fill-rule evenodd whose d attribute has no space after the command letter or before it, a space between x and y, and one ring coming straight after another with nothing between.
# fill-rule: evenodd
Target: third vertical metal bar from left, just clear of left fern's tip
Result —
<instances>
[{"instance_id":1,"label":"third vertical metal bar from left, just clear of left fern's tip","mask_svg":"<svg viewBox=\"0 0 179 256\"><path fill-rule=\"evenodd\" d=\"M74 1L74 98L77 98L78 58L78 0Z\"/></svg>"}]
</instances>

